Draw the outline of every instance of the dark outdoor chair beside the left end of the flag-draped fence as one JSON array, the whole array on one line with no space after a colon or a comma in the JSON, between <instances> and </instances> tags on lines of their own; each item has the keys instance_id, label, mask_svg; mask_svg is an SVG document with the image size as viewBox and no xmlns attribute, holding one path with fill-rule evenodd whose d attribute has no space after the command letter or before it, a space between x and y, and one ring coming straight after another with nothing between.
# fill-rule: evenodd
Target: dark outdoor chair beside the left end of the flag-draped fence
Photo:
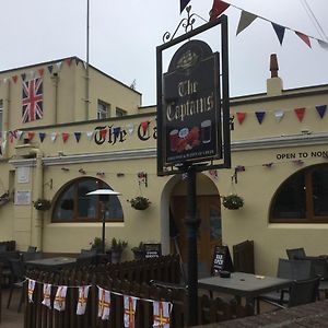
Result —
<instances>
[{"instance_id":1,"label":"dark outdoor chair beside the left end of the flag-draped fence","mask_svg":"<svg viewBox=\"0 0 328 328\"><path fill-rule=\"evenodd\" d=\"M19 312L21 312L22 304L24 301L24 281L25 281L25 268L22 259L10 259L10 269L12 272L13 280L10 284L10 292L7 303L7 308L10 307L12 294L14 289L21 290L21 298L19 303Z\"/></svg>"}]
</instances>

